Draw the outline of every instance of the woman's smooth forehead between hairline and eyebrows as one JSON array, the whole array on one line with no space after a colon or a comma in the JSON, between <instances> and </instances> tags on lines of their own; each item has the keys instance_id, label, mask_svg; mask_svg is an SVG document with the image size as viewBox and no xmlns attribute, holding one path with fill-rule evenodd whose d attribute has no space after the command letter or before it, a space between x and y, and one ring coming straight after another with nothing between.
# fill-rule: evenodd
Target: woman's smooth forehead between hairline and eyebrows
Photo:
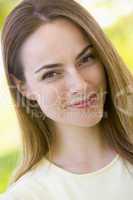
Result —
<instances>
[{"instance_id":1,"label":"woman's smooth forehead between hairline and eyebrows","mask_svg":"<svg viewBox=\"0 0 133 200\"><path fill-rule=\"evenodd\" d=\"M27 65L64 56L76 57L88 42L87 36L73 22L56 19L41 25L25 40L20 49L20 58Z\"/></svg>"}]
</instances>

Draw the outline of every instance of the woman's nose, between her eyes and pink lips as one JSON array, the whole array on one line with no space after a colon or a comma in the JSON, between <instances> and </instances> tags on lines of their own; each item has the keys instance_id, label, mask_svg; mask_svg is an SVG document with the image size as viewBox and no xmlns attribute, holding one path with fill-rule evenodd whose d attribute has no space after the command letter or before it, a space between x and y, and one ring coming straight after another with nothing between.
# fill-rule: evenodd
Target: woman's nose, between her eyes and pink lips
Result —
<instances>
[{"instance_id":1,"label":"woman's nose, between her eyes and pink lips","mask_svg":"<svg viewBox=\"0 0 133 200\"><path fill-rule=\"evenodd\" d=\"M74 94L83 94L87 91L88 83L85 80L83 74L79 72L77 69L73 68L69 72L68 78L69 92Z\"/></svg>"}]
</instances>

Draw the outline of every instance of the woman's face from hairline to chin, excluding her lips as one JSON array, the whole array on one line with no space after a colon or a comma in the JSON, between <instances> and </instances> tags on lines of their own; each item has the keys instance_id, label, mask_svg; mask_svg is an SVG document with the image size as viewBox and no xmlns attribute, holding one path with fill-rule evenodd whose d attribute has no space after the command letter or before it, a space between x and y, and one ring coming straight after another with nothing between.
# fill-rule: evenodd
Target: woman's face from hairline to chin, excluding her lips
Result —
<instances>
[{"instance_id":1,"label":"woman's face from hairline to chin, excluding her lips","mask_svg":"<svg viewBox=\"0 0 133 200\"><path fill-rule=\"evenodd\" d=\"M49 119L76 126L93 126L101 120L106 93L104 68L88 38L72 22L58 19L39 27L23 43L20 61L27 96L35 97ZM93 93L97 93L96 104L70 106Z\"/></svg>"}]
</instances>

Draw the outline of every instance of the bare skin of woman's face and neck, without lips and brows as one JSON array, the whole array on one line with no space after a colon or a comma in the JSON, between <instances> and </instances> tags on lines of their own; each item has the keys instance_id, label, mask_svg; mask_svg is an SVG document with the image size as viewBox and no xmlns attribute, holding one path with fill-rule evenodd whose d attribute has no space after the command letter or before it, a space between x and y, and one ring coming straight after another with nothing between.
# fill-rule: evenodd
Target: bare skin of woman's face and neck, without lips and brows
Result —
<instances>
[{"instance_id":1,"label":"bare skin of woman's face and neck, without lips and brows","mask_svg":"<svg viewBox=\"0 0 133 200\"><path fill-rule=\"evenodd\" d=\"M103 140L101 126L103 106L106 99L106 77L104 68L95 49L89 48L84 54L88 57L75 60L76 56L88 45L89 39L70 21L58 19L38 28L23 43L20 60L24 67L26 83L23 95L38 102L47 116L46 120L56 138L53 146L52 161L74 172L94 171L108 164L115 152ZM41 66L61 63L55 69ZM50 70L55 73L41 80ZM19 88L20 81L15 79ZM68 105L89 97L97 92L97 104L85 109Z\"/></svg>"}]
</instances>

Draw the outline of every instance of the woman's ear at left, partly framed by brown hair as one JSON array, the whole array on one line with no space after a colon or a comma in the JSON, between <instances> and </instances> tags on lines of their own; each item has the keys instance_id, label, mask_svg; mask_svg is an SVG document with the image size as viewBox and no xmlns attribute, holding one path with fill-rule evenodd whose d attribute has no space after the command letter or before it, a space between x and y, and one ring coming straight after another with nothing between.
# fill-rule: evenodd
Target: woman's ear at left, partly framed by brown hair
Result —
<instances>
[{"instance_id":1,"label":"woman's ear at left, partly framed by brown hair","mask_svg":"<svg viewBox=\"0 0 133 200\"><path fill-rule=\"evenodd\" d=\"M17 90L29 100L36 100L35 95L31 92L31 89L28 87L26 82L19 80L13 74L9 74L10 79L13 81L14 85L16 86Z\"/></svg>"}]
</instances>

